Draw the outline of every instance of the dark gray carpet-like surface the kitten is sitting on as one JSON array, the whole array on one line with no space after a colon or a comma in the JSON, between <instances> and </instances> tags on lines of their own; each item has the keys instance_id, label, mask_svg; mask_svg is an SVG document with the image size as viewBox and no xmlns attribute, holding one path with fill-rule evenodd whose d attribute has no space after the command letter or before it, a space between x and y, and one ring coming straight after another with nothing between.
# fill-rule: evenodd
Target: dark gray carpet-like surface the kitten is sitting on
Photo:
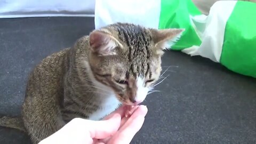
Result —
<instances>
[{"instance_id":1,"label":"dark gray carpet-like surface the kitten is sitting on","mask_svg":"<svg viewBox=\"0 0 256 144\"><path fill-rule=\"evenodd\" d=\"M94 29L93 18L0 19L0 115L20 115L29 71ZM256 79L201 57L166 51L165 81L148 95L132 143L256 143ZM0 127L0 143L29 143Z\"/></svg>"}]
</instances>

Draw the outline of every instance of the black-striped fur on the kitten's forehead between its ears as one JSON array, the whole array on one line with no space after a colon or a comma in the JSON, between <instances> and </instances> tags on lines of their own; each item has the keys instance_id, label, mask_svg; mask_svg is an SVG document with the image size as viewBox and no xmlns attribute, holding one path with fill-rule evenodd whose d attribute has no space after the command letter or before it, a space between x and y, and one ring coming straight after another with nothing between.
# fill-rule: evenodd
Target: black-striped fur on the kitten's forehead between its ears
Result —
<instances>
[{"instance_id":1,"label":"black-striped fur on the kitten's forehead between its ears","mask_svg":"<svg viewBox=\"0 0 256 144\"><path fill-rule=\"evenodd\" d=\"M149 44L151 36L146 28L136 25L119 24L115 25L114 29L116 29L119 39L129 48L130 74L135 77L150 73L149 61L151 51Z\"/></svg>"}]
</instances>

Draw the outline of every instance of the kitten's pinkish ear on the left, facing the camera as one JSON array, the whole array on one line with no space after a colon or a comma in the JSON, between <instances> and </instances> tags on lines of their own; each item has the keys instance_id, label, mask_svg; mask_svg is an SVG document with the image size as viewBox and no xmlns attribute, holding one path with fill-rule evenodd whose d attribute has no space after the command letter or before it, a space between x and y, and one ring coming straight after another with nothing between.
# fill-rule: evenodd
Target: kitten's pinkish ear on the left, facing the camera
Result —
<instances>
[{"instance_id":1,"label":"kitten's pinkish ear on the left, facing the camera","mask_svg":"<svg viewBox=\"0 0 256 144\"><path fill-rule=\"evenodd\" d=\"M115 55L115 48L120 45L111 34L98 30L92 31L89 41L92 52L99 55Z\"/></svg>"}]
</instances>

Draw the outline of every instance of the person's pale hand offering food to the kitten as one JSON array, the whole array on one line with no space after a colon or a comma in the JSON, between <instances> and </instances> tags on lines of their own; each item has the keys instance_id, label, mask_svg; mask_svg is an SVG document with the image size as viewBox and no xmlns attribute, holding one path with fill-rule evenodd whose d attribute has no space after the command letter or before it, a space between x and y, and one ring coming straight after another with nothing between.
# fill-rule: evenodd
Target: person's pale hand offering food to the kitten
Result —
<instances>
[{"instance_id":1,"label":"person's pale hand offering food to the kitten","mask_svg":"<svg viewBox=\"0 0 256 144\"><path fill-rule=\"evenodd\" d=\"M39 144L128 144L141 129L147 111L146 106L134 106L131 109L131 116L126 117L127 107L122 106L102 121L74 118Z\"/></svg>"}]
</instances>

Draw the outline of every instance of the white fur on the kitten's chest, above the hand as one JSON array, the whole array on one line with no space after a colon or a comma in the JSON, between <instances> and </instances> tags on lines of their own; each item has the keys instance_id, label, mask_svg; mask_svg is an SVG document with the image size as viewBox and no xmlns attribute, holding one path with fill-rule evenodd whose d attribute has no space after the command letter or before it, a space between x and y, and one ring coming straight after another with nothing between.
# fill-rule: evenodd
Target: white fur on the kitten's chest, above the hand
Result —
<instances>
[{"instance_id":1,"label":"white fur on the kitten's chest, above the hand","mask_svg":"<svg viewBox=\"0 0 256 144\"><path fill-rule=\"evenodd\" d=\"M100 118L113 112L120 105L120 102L118 101L114 91L111 90L110 87L101 84L94 78L90 65L87 61L85 62L85 65L87 68L87 73L89 74L90 79L94 84L94 87L96 88L95 94L97 94L97 96L99 97L99 101L101 101L101 108L89 116L89 119L97 121Z\"/></svg>"}]
</instances>

